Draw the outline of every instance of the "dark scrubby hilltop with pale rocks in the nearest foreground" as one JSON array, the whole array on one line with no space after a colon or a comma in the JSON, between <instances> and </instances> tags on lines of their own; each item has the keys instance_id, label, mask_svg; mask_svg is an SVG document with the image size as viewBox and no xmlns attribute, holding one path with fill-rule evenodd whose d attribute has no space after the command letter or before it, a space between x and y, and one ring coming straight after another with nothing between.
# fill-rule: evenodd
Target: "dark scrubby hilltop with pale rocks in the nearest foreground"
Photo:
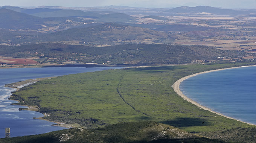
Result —
<instances>
[{"instance_id":1,"label":"dark scrubby hilltop with pale rocks in the nearest foreground","mask_svg":"<svg viewBox=\"0 0 256 143\"><path fill-rule=\"evenodd\" d=\"M192 139L193 138L193 139ZM224 141L199 138L181 129L157 122L119 123L98 129L72 128L40 135L2 138L0 143L223 143Z\"/></svg>"}]
</instances>

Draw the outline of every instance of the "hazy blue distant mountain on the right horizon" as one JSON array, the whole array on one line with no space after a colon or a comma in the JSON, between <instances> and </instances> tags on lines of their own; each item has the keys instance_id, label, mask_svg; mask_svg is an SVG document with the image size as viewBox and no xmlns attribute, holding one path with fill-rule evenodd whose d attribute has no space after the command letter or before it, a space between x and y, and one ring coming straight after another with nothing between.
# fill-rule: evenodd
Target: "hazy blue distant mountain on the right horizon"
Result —
<instances>
[{"instance_id":1,"label":"hazy blue distant mountain on the right horizon","mask_svg":"<svg viewBox=\"0 0 256 143\"><path fill-rule=\"evenodd\" d=\"M165 12L172 12L172 13L207 12L210 14L250 14L249 11L245 11L245 10L221 9L221 8L213 8L210 6L196 6L196 7L181 6L178 8L169 9Z\"/></svg>"}]
</instances>

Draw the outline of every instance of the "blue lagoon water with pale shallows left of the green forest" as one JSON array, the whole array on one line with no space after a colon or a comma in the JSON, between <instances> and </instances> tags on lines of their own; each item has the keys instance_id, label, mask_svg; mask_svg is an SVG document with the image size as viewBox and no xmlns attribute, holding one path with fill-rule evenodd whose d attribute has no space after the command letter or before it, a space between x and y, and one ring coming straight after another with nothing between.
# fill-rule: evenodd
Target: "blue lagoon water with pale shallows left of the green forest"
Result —
<instances>
[{"instance_id":1,"label":"blue lagoon water with pale shallows left of the green forest","mask_svg":"<svg viewBox=\"0 0 256 143\"><path fill-rule=\"evenodd\" d=\"M4 87L5 84L24 81L26 79L44 78L52 76L69 75L100 71L120 67L49 67L49 68L9 68L0 69L0 138L5 137L5 128L10 128L11 137L43 134L50 131L66 129L58 126L51 126L53 122L33 119L43 117L43 114L35 111L19 111L24 106L10 105L17 101L8 100L13 88Z\"/></svg>"}]
</instances>

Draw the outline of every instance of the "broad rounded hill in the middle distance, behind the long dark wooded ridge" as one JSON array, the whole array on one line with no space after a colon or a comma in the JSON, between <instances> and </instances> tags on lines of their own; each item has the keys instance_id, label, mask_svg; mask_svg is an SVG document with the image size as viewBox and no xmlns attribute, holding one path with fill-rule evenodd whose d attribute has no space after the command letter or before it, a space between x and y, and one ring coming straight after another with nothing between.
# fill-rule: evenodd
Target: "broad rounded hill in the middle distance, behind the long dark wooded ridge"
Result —
<instances>
[{"instance_id":1,"label":"broad rounded hill in the middle distance, behind the long dark wooded ridge","mask_svg":"<svg viewBox=\"0 0 256 143\"><path fill-rule=\"evenodd\" d=\"M61 42L73 41L74 43L93 44L127 44L151 41L171 42L168 33L158 32L147 28L125 26L115 23L106 23L81 29L68 29L61 32L43 35L34 39L27 39L34 42ZM154 42L152 42L154 43Z\"/></svg>"}]
</instances>

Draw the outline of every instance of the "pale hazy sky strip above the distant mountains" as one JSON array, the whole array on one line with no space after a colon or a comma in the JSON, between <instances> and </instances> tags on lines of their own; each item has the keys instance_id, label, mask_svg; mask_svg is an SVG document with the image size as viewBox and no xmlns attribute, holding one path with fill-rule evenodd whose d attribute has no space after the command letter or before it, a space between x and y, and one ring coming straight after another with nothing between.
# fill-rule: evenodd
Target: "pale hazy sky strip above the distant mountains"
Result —
<instances>
[{"instance_id":1,"label":"pale hazy sky strip above the distant mountains","mask_svg":"<svg viewBox=\"0 0 256 143\"><path fill-rule=\"evenodd\" d=\"M256 0L0 0L0 6L132 6L172 8L178 6L213 6L218 8L256 9Z\"/></svg>"}]
</instances>

